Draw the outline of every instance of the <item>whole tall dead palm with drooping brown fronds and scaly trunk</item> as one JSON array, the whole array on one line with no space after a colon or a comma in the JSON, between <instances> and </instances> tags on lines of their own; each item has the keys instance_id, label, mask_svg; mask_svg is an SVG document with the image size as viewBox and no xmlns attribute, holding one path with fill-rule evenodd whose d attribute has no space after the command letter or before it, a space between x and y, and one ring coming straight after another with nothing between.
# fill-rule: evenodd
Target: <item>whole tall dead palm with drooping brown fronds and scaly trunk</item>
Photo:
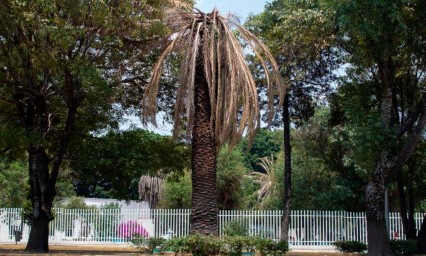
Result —
<instances>
[{"instance_id":1,"label":"whole tall dead palm with drooping brown fronds and scaly trunk","mask_svg":"<svg viewBox=\"0 0 426 256\"><path fill-rule=\"evenodd\" d=\"M171 43L155 64L145 90L142 121L155 125L163 62L172 52L180 54L174 135L177 136L185 123L192 139L191 233L217 235L218 149L224 143L232 148L243 133L252 139L260 125L257 88L246 65L241 40L252 48L265 70L271 112L274 92L283 92L281 77L265 45L232 16L223 17L217 10L205 14L197 9L170 15ZM239 37L232 28L238 31Z\"/></svg>"}]
</instances>

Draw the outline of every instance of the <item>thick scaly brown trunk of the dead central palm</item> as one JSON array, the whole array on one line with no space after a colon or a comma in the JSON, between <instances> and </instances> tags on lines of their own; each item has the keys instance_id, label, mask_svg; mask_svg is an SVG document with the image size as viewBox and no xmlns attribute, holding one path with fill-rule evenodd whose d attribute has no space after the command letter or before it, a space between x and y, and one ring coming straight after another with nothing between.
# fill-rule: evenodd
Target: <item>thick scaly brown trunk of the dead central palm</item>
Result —
<instances>
[{"instance_id":1,"label":"thick scaly brown trunk of the dead central palm","mask_svg":"<svg viewBox=\"0 0 426 256\"><path fill-rule=\"evenodd\" d=\"M194 104L190 233L218 235L216 143L214 128L210 125L210 97L207 80L204 76L201 47L195 70Z\"/></svg>"}]
</instances>

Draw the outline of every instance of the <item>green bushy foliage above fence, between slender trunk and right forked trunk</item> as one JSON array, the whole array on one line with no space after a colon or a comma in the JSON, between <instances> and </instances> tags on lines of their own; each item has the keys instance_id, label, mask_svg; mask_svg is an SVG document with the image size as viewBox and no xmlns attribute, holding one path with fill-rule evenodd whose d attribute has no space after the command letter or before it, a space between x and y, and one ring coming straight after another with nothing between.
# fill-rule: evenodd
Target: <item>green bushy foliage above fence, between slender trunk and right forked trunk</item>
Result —
<instances>
[{"instance_id":1,"label":"green bushy foliage above fence, between slender trunk and right forked trunk","mask_svg":"<svg viewBox=\"0 0 426 256\"><path fill-rule=\"evenodd\" d=\"M330 126L331 110L315 115L293 132L293 209L364 210L365 169L345 161L348 136Z\"/></svg>"}]
</instances>

